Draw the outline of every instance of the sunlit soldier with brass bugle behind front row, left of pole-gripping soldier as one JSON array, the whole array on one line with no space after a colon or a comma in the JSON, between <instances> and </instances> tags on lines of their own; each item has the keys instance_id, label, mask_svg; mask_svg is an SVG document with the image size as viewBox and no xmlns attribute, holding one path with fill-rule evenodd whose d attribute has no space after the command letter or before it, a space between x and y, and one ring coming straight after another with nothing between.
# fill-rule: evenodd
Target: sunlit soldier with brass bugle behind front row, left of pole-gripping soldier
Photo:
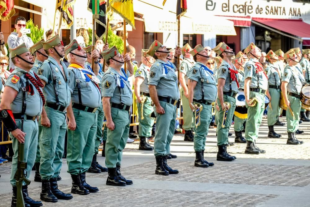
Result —
<instances>
[{"instance_id":1,"label":"sunlit soldier with brass bugle behind front row, left of pole-gripping soldier","mask_svg":"<svg viewBox=\"0 0 310 207\"><path fill-rule=\"evenodd\" d=\"M137 97L137 108L139 114L139 150L153 150L147 142L147 138L152 135L154 119L151 118L153 106L150 91L148 90L148 80L150 78L150 68L154 63L154 58L147 54L147 50L142 49L142 64L135 73L135 95Z\"/></svg>"}]
</instances>

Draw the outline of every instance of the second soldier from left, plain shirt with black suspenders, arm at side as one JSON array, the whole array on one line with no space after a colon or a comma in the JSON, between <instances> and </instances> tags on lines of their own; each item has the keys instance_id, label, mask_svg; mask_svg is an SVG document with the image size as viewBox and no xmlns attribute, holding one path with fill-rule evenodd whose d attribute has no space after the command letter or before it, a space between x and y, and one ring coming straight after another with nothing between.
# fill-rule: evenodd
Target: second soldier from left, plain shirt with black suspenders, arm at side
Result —
<instances>
[{"instance_id":1,"label":"second soldier from left, plain shirt with black suspenders, arm at side","mask_svg":"<svg viewBox=\"0 0 310 207\"><path fill-rule=\"evenodd\" d=\"M42 45L48 59L38 69L46 98L46 105L39 118L40 175L42 177L40 199L46 202L57 202L57 199L73 198L71 194L61 192L57 185L67 129L65 109L70 103L69 75L67 67L60 60L64 57L64 46L59 35L42 42Z\"/></svg>"}]
</instances>

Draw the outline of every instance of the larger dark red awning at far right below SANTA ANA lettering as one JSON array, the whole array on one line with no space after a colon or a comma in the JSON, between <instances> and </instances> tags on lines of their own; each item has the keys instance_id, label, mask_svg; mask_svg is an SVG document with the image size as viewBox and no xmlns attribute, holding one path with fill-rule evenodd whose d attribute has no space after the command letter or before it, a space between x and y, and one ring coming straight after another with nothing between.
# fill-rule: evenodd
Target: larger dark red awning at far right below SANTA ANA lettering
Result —
<instances>
[{"instance_id":1,"label":"larger dark red awning at far right below SANTA ANA lettering","mask_svg":"<svg viewBox=\"0 0 310 207\"><path fill-rule=\"evenodd\" d=\"M298 40L302 41L302 39L304 39L304 38L310 38L310 25L303 22L303 20L301 20L301 19L299 19L299 20L293 20L293 19L283 20L283 19L252 18L252 22L254 24L263 26L267 29L271 28L270 30L277 32L279 34L282 34L284 36L288 36L288 37L293 38L293 39L298 39ZM299 38L288 35L288 34L284 34L282 32L274 30L272 28L281 30L281 31L286 32L288 34L295 35Z\"/></svg>"}]
</instances>

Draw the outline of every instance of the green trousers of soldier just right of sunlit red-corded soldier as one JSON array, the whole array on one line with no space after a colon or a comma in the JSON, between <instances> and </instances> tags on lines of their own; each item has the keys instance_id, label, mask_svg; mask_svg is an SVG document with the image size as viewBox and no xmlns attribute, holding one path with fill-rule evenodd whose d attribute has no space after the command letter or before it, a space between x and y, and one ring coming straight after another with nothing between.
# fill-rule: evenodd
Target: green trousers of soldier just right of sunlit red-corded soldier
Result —
<instances>
[{"instance_id":1,"label":"green trousers of soldier just right of sunlit red-corded soldier","mask_svg":"<svg viewBox=\"0 0 310 207\"><path fill-rule=\"evenodd\" d=\"M279 118L279 111L280 111L280 97L281 97L281 91L280 89L275 88L268 88L269 94L271 96L271 108L269 106L267 111L267 123L268 126L273 126L276 124Z\"/></svg>"}]
</instances>

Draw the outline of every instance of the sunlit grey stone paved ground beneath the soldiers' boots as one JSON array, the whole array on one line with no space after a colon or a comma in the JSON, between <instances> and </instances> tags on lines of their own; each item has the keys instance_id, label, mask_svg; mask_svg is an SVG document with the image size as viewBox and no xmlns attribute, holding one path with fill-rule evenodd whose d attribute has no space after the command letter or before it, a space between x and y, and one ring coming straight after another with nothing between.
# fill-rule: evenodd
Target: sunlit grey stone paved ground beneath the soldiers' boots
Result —
<instances>
[{"instance_id":1,"label":"sunlit grey stone paved ground beneath the soldiers' boots","mask_svg":"<svg viewBox=\"0 0 310 207\"><path fill-rule=\"evenodd\" d=\"M284 121L284 119L281 119ZM263 155L244 154L245 144L228 147L237 160L216 161L215 129L210 129L206 142L205 158L215 166L206 169L193 166L193 142L184 142L183 135L175 135L171 153L177 159L168 164L179 169L179 174L159 176L154 174L153 151L139 151L139 142L127 144L123 153L122 174L131 178L133 185L106 186L107 173L86 173L89 184L100 191L87 196L73 195L72 200L57 203L43 202L44 206L310 206L310 123L297 135L305 144L286 145L286 127L275 127L280 139L267 138L266 119L260 127L257 145L266 150ZM233 128L230 130L233 132ZM234 135L229 137L233 142ZM153 143L151 143L153 144ZM104 164L104 157L97 160ZM0 206L10 206L10 163L0 166ZM71 178L64 160L59 188L70 192ZM41 183L33 181L31 172L29 194L39 200Z\"/></svg>"}]
</instances>

